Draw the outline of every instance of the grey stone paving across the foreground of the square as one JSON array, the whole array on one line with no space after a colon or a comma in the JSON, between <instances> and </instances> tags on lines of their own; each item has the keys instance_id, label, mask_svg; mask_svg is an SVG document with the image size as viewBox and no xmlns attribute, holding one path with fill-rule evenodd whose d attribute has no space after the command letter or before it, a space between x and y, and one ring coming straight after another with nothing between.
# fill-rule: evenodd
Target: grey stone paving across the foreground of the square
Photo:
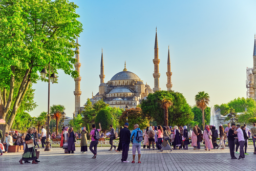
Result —
<instances>
[{"instance_id":1,"label":"grey stone paving across the foreground of the square","mask_svg":"<svg viewBox=\"0 0 256 171\"><path fill-rule=\"evenodd\" d=\"M256 155L253 155L253 146L247 149L249 155L245 160L231 160L229 148L200 150L175 150L162 153L152 149L141 149L141 163L132 162L132 147L129 150L128 161L121 162L121 152L108 151L109 147L98 147L98 156L92 159L93 154L80 153L80 147L76 147L75 154L65 154L62 148L51 148L50 152L39 149L38 164L19 164L23 153L4 153L0 157L0 170L255 170ZM89 150L89 148L88 148ZM239 155L236 154L236 157Z\"/></svg>"}]
</instances>

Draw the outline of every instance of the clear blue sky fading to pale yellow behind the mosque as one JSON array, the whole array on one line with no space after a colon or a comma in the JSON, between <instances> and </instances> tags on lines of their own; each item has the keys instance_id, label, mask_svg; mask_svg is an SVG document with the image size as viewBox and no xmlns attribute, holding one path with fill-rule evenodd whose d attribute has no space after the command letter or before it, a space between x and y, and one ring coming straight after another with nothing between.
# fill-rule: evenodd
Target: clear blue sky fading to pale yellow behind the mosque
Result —
<instances>
[{"instance_id":1,"label":"clear blue sky fading to pale yellow behind the mosque","mask_svg":"<svg viewBox=\"0 0 256 171\"><path fill-rule=\"evenodd\" d=\"M73 1L79 6L83 32L80 50L81 106L98 92L103 48L104 82L126 68L154 88L154 43L157 27L160 88L167 90L167 53L173 90L190 105L205 91L210 105L246 97L246 67L253 66L256 1ZM74 79L59 72L51 84L50 105L75 109ZM47 111L48 86L33 85L38 116Z\"/></svg>"}]
</instances>

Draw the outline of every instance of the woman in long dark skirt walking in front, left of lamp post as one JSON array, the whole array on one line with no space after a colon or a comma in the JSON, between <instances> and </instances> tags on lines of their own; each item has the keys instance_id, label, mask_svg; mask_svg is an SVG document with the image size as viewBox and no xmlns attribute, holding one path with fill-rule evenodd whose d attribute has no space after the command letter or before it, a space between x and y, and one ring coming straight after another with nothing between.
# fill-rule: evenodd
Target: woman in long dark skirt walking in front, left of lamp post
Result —
<instances>
[{"instance_id":1,"label":"woman in long dark skirt walking in front, left of lamp post","mask_svg":"<svg viewBox=\"0 0 256 171\"><path fill-rule=\"evenodd\" d=\"M32 164L37 164L37 162L35 162L35 160L37 159L36 158L36 154L35 154L35 141L34 141L34 137L33 137L33 132L34 132L34 129L32 127L30 127L27 131L27 135L25 137L25 141L29 141L32 139L32 143L34 144L33 147L28 147L28 144L26 144L26 148L25 148L25 151L24 151L24 154L22 155L22 159L19 160L19 163L20 164L23 164L22 161L25 161L25 162L28 162L30 160L32 160ZM30 143L30 144L32 144Z\"/></svg>"}]
</instances>

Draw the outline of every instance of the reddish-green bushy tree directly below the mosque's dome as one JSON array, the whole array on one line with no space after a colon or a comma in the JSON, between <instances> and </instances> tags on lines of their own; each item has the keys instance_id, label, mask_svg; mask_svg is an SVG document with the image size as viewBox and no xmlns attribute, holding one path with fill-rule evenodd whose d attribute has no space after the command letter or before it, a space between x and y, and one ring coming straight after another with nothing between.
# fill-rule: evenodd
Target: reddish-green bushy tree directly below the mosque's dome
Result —
<instances>
[{"instance_id":1,"label":"reddish-green bushy tree directly below the mosque's dome","mask_svg":"<svg viewBox=\"0 0 256 171\"><path fill-rule=\"evenodd\" d=\"M148 120L147 117L143 116L142 110L140 108L132 108L125 110L120 119L119 119L119 125L124 125L126 123L126 117L127 117L127 112L128 112L128 123L129 123L129 130L134 129L134 125L138 124L140 129L143 130L146 128L146 126L150 125L150 121Z\"/></svg>"}]
</instances>

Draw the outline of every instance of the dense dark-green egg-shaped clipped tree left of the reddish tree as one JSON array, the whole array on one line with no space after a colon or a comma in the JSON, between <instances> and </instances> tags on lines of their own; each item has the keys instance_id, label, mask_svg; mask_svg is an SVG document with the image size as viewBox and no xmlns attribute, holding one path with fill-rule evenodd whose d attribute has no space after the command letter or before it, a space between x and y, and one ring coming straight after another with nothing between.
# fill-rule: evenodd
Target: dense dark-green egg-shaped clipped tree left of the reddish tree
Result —
<instances>
[{"instance_id":1,"label":"dense dark-green egg-shaped clipped tree left of the reddish tree","mask_svg":"<svg viewBox=\"0 0 256 171\"><path fill-rule=\"evenodd\" d=\"M95 118L95 124L97 129L99 128L99 123L101 124L102 133L105 134L107 130L110 129L110 125L112 124L112 114L108 109L102 109L99 111ZM115 122L113 122L113 127L115 128Z\"/></svg>"}]
</instances>

